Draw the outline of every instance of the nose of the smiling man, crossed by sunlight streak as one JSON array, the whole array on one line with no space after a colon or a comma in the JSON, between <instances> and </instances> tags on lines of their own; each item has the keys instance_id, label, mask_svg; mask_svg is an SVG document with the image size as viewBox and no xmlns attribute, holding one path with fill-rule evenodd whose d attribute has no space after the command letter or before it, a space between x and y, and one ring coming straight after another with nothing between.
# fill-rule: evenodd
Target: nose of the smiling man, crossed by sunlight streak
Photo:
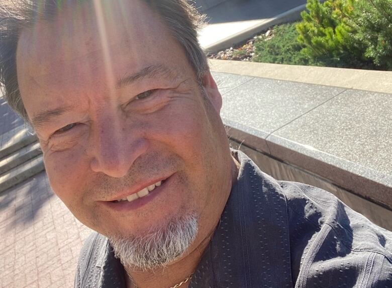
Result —
<instances>
[{"instance_id":1,"label":"nose of the smiling man, crossed by sunlight streak","mask_svg":"<svg viewBox=\"0 0 392 288\"><path fill-rule=\"evenodd\" d=\"M147 141L124 124L113 119L102 121L94 129L91 170L120 178L147 149Z\"/></svg>"}]
</instances>

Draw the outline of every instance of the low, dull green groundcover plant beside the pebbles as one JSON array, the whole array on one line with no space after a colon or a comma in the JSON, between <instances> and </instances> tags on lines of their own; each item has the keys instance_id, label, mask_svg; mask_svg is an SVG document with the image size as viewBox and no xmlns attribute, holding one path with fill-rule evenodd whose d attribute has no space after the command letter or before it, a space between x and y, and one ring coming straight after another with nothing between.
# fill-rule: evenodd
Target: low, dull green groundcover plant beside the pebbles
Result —
<instances>
[{"instance_id":1,"label":"low, dull green groundcover plant beside the pebbles","mask_svg":"<svg viewBox=\"0 0 392 288\"><path fill-rule=\"evenodd\" d=\"M259 37L254 43L254 62L316 65L307 55L301 53L303 46L297 41L296 23L275 26L273 37Z\"/></svg>"}]
</instances>

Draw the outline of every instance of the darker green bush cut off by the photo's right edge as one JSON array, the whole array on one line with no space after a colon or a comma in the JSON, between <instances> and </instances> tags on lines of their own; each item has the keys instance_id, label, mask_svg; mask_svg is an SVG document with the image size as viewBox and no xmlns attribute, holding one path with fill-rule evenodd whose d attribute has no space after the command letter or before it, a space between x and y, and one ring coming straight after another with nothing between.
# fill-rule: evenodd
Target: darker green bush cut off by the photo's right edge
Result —
<instances>
[{"instance_id":1,"label":"darker green bush cut off by the photo's right edge","mask_svg":"<svg viewBox=\"0 0 392 288\"><path fill-rule=\"evenodd\" d=\"M358 1L349 21L355 39L366 46L364 55L392 70L392 0Z\"/></svg>"}]
</instances>

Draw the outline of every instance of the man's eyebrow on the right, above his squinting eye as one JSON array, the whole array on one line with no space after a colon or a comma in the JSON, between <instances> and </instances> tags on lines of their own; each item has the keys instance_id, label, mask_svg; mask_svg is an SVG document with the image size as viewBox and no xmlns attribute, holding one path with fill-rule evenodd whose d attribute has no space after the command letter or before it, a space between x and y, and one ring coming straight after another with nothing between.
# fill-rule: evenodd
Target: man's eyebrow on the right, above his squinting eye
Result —
<instances>
[{"instance_id":1,"label":"man's eyebrow on the right, above his squinting eye","mask_svg":"<svg viewBox=\"0 0 392 288\"><path fill-rule=\"evenodd\" d=\"M150 65L147 66L140 71L131 74L131 75L126 75L124 77L121 77L117 81L116 88L121 88L122 86L132 84L138 80L142 80L143 78L152 78L156 76L162 76L165 78L170 78L173 77L173 72L171 69L168 67L162 65L162 64L156 64L156 65Z\"/></svg>"}]
</instances>

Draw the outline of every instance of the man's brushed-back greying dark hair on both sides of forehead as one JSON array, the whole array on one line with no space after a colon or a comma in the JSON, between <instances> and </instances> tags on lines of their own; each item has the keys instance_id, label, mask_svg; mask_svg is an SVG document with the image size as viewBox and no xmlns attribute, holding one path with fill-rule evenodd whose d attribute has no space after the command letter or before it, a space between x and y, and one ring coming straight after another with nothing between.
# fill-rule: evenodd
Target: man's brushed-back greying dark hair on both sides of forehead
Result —
<instances>
[{"instance_id":1,"label":"man's brushed-back greying dark hair on both sides of forehead","mask_svg":"<svg viewBox=\"0 0 392 288\"><path fill-rule=\"evenodd\" d=\"M82 3L91 0L72 0ZM188 61L201 79L209 69L207 56L201 48L197 31L204 17L187 0L143 0L166 23L174 38L184 48ZM61 7L57 0L2 0L0 4L0 84L10 107L29 122L19 91L16 50L21 30L38 19L50 20Z\"/></svg>"}]
</instances>

